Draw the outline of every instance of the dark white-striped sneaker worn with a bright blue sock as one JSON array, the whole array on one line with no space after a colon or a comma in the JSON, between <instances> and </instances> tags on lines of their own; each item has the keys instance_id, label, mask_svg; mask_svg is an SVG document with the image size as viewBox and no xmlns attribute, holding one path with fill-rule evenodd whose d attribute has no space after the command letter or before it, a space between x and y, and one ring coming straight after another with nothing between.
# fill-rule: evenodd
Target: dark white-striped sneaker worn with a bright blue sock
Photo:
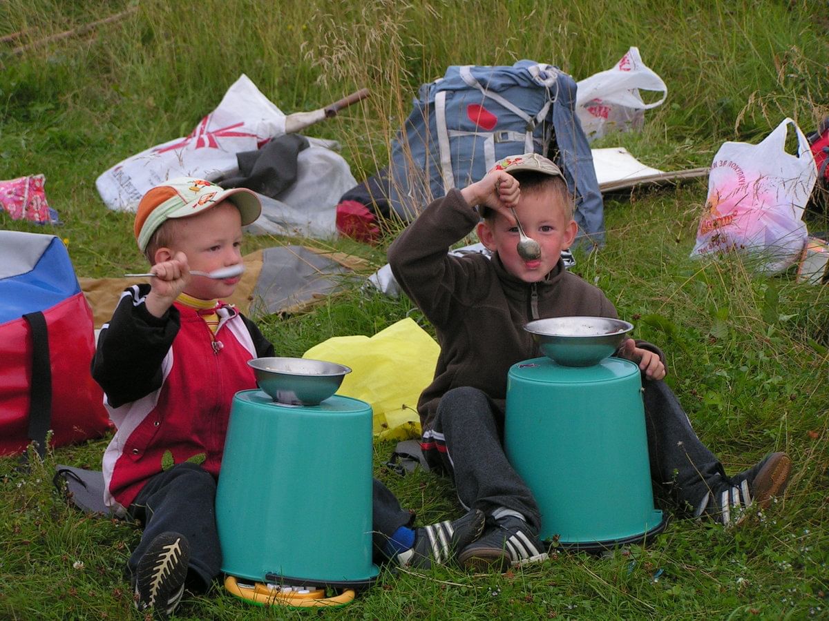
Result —
<instances>
[{"instance_id":1,"label":"dark white-striped sneaker worn with a bright blue sock","mask_svg":"<svg viewBox=\"0 0 829 621\"><path fill-rule=\"evenodd\" d=\"M485 516L473 509L463 517L449 522L429 524L414 531L414 546L397 555L404 567L429 569L433 565L447 565L454 554L481 537Z\"/></svg>"}]
</instances>

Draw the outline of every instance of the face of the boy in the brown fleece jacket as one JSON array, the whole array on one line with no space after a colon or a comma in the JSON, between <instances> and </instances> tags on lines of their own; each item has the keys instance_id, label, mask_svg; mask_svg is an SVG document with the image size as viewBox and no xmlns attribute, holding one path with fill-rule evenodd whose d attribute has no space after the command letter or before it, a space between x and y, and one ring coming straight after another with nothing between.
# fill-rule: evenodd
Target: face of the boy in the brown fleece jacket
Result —
<instances>
[{"instance_id":1,"label":"face of the boy in the brown fleece jacket","mask_svg":"<svg viewBox=\"0 0 829 621\"><path fill-rule=\"evenodd\" d=\"M507 272L524 282L540 282L559 262L561 251L570 248L579 229L574 220L565 217L560 200L555 190L541 188L522 193L516 207L524 232L541 245L541 258L525 261L518 256L518 227L501 213L478 224L478 238L498 253Z\"/></svg>"}]
</instances>

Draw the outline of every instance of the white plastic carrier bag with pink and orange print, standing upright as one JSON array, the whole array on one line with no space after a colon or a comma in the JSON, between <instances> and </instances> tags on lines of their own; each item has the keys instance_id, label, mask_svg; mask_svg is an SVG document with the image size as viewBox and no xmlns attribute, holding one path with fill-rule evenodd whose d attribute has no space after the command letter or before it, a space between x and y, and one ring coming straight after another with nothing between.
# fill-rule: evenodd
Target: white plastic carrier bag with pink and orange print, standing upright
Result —
<instances>
[{"instance_id":1,"label":"white plastic carrier bag with pink and orange print, standing upright","mask_svg":"<svg viewBox=\"0 0 829 621\"><path fill-rule=\"evenodd\" d=\"M789 124L797 132L797 156L785 150ZM816 178L809 143L791 118L757 145L725 142L711 164L691 257L737 250L756 259L752 267L759 272L782 272L806 243L801 218Z\"/></svg>"}]
</instances>

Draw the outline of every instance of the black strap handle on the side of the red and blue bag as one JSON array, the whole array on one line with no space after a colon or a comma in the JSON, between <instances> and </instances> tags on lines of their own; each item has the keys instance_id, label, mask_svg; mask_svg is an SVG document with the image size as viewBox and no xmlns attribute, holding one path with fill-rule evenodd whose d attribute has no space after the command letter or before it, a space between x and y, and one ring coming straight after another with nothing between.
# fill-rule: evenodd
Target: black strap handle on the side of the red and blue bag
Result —
<instances>
[{"instance_id":1,"label":"black strap handle on the side of the red and blue bag","mask_svg":"<svg viewBox=\"0 0 829 621\"><path fill-rule=\"evenodd\" d=\"M51 426L51 363L46 317L38 310L23 315L32 331L32 383L29 387L29 440L36 442L37 454L46 455L46 434ZM23 454L23 461L26 453Z\"/></svg>"}]
</instances>

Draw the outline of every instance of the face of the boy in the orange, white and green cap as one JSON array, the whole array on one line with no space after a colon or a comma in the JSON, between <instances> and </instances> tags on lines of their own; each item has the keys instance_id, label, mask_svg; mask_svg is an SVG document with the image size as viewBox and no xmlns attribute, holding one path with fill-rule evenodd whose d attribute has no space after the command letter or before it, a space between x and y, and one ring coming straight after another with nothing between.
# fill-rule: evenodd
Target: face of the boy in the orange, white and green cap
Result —
<instances>
[{"instance_id":1,"label":"face of the boy in the orange, white and green cap","mask_svg":"<svg viewBox=\"0 0 829 621\"><path fill-rule=\"evenodd\" d=\"M176 224L170 250L173 254L185 253L191 270L212 272L242 262L242 216L232 203L225 200ZM239 281L238 276L224 280L193 276L184 292L200 300L224 298L233 293Z\"/></svg>"}]
</instances>

